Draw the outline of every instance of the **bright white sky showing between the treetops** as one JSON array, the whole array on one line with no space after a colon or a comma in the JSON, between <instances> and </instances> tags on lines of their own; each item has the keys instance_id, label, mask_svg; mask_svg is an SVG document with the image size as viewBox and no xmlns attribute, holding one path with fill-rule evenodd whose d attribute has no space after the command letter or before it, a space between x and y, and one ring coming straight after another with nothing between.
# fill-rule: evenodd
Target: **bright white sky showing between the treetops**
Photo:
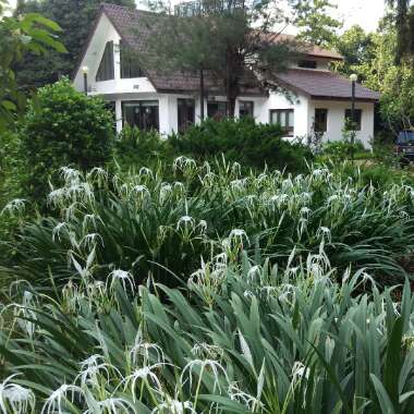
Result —
<instances>
[{"instance_id":1,"label":"bright white sky showing between the treetops","mask_svg":"<svg viewBox=\"0 0 414 414\"><path fill-rule=\"evenodd\" d=\"M106 1L110 3L110 0ZM15 2L10 0L11 5ZM385 0L332 0L332 3L338 5L334 16L343 21L344 29L358 24L367 32L375 31L385 11Z\"/></svg>"}]
</instances>

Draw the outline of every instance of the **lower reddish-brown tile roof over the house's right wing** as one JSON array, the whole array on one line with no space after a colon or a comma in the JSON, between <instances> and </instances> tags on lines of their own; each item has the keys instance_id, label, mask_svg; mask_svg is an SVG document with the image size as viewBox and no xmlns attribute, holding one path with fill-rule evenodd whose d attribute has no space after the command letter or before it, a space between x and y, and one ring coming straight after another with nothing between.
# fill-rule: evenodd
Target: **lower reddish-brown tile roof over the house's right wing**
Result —
<instances>
[{"instance_id":1,"label":"lower reddish-brown tile roof over the house's right wing","mask_svg":"<svg viewBox=\"0 0 414 414\"><path fill-rule=\"evenodd\" d=\"M283 86L291 87L313 99L351 99L351 81L333 72L291 69L275 74L275 77ZM380 94L356 84L355 98L360 101L377 101Z\"/></svg>"}]
</instances>

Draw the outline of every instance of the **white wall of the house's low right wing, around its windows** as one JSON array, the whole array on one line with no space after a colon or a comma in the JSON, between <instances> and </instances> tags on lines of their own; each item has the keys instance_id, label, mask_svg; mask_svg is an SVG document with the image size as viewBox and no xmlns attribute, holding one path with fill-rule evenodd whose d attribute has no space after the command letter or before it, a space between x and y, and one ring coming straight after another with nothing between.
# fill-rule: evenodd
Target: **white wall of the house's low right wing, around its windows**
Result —
<instances>
[{"instance_id":1,"label":"white wall of the house's low right wing, around its windows","mask_svg":"<svg viewBox=\"0 0 414 414\"><path fill-rule=\"evenodd\" d=\"M343 126L345 121L345 109L351 108L350 101L332 101L332 100L310 100L307 124L309 133L315 120L315 108L328 109L327 132L324 134L324 141L339 141L343 137ZM356 109L362 109L361 131L356 132L356 139L360 139L366 148L372 147L374 138L374 104L356 102Z\"/></svg>"}]
</instances>

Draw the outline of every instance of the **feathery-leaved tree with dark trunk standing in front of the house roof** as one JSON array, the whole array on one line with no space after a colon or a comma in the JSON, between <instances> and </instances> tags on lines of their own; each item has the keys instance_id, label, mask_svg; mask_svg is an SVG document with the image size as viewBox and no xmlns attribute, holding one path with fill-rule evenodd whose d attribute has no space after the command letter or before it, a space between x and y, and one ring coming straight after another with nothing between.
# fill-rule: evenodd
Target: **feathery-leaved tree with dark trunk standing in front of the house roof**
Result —
<instances>
[{"instance_id":1,"label":"feathery-leaved tree with dark trunk standing in front of the house roof","mask_svg":"<svg viewBox=\"0 0 414 414\"><path fill-rule=\"evenodd\" d=\"M154 31L149 48L150 60L157 62L154 68L171 62L179 70L209 73L223 85L228 115L233 117L246 73L271 75L297 56L296 44L283 41L280 32L271 31L277 24L287 24L280 4L270 0L199 0L179 7L175 15L163 5L162 25Z\"/></svg>"}]
</instances>

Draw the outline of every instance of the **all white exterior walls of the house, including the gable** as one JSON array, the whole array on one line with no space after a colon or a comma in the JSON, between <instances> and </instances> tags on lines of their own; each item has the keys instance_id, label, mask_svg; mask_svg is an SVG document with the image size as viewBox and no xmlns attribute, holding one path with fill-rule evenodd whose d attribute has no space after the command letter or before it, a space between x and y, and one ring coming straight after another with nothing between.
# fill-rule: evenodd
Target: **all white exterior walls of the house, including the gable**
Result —
<instances>
[{"instance_id":1,"label":"all white exterior walls of the house, including the gable","mask_svg":"<svg viewBox=\"0 0 414 414\"><path fill-rule=\"evenodd\" d=\"M104 54L106 44L113 41L114 80L96 82L96 74ZM158 94L147 77L121 78L120 70L120 36L104 14L96 27L85 57L80 68L86 65L88 72L88 94L100 95L109 101L115 102L117 130L122 130L122 101L124 100L158 100L159 102L159 129L162 135L168 135L178 131L178 98L194 98L196 102L195 120L200 119L200 102L194 95ZM329 70L326 59L315 59L318 62L318 70ZM78 90L84 90L84 77L80 70L74 78L74 86ZM211 98L211 97L210 97ZM224 96L215 96L215 100L226 100ZM306 96L291 94L287 96L278 92L270 92L268 97L241 97L239 100L249 100L254 102L254 118L259 123L270 121L271 109L293 109L294 110L294 136L305 139L312 133L315 108L328 109L328 131L325 141L336 141L342 137L344 124L344 111L351 107L344 101L315 101ZM239 117L239 100L235 105L235 115ZM207 99L204 102L205 114L207 115ZM366 147L374 136L374 104L356 104L356 108L362 109L362 131L357 132L356 138L361 139ZM289 138L291 139L291 138Z\"/></svg>"}]
</instances>

